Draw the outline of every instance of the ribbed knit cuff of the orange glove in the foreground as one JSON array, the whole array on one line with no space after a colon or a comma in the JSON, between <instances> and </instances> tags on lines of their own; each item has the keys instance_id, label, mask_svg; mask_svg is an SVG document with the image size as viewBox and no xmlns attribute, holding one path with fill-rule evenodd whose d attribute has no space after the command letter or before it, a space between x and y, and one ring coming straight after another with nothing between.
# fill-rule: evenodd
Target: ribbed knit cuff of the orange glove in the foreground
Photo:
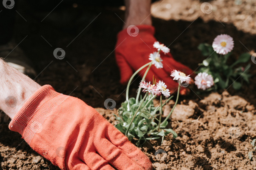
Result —
<instances>
[{"instance_id":1,"label":"ribbed knit cuff of the orange glove in the foreground","mask_svg":"<svg viewBox=\"0 0 256 170\"><path fill-rule=\"evenodd\" d=\"M67 97L54 91L51 85L40 87L15 114L9 123L9 129L19 132L30 145L34 134L40 130L48 114Z\"/></svg>"}]
</instances>

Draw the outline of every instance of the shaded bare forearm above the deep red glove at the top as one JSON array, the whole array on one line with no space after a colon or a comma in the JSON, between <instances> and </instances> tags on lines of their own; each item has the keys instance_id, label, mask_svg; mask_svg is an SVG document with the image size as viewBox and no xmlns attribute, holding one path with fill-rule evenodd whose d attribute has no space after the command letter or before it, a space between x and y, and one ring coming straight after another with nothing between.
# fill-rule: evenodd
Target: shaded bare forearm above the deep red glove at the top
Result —
<instances>
[{"instance_id":1,"label":"shaded bare forearm above the deep red glove at the top","mask_svg":"<svg viewBox=\"0 0 256 170\"><path fill-rule=\"evenodd\" d=\"M151 0L125 0L125 25L152 25L150 17Z\"/></svg>"}]
</instances>

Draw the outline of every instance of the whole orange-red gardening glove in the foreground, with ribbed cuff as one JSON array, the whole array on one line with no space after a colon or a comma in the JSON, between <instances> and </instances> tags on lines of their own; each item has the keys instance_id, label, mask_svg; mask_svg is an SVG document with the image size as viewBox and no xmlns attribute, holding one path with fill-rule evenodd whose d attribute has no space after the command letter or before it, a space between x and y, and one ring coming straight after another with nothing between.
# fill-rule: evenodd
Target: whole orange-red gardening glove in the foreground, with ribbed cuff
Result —
<instances>
[{"instance_id":1,"label":"whole orange-red gardening glove in the foreground, with ribbed cuff","mask_svg":"<svg viewBox=\"0 0 256 170\"><path fill-rule=\"evenodd\" d=\"M26 101L9 129L61 169L152 169L149 158L94 108L50 85Z\"/></svg>"}]
</instances>

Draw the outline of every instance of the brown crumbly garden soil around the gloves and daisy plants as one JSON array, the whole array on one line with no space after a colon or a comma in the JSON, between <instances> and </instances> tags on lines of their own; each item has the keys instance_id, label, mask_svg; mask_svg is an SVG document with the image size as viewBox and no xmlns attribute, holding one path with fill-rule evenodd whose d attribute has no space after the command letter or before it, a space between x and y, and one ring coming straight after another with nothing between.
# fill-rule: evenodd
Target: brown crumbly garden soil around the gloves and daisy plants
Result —
<instances>
[{"instance_id":1,"label":"brown crumbly garden soil around the gloves and daisy plants","mask_svg":"<svg viewBox=\"0 0 256 170\"><path fill-rule=\"evenodd\" d=\"M203 60L197 50L198 44L211 43L221 33L229 34L235 41L234 55L229 62L247 50L254 53L254 1L209 1L213 6L210 14L200 10L202 3L197 0L164 0L152 5L153 16L156 17L153 18L155 36L162 43L170 44L175 59L195 70ZM49 7L49 11L55 6ZM112 52L116 34L123 24L119 17L123 19L124 12L114 7L78 5L72 8L60 5L41 22L49 11L40 12L25 3L20 3L17 11L27 22L17 15L14 38L19 43L28 35L19 46L32 60L38 73L43 70L36 81L41 85L50 84L58 92L81 98L114 124L113 113L117 111L103 108L107 98L114 99L117 107L125 100L125 86L118 82L119 71ZM97 19L88 26L97 15ZM52 52L57 47L65 50L65 59L53 57ZM250 72L256 73L253 63ZM178 137L168 136L162 146L160 140L149 141L140 148L149 156L154 168L256 169L256 156L248 159L248 151L252 149L250 142L256 138L256 79L253 77L251 83L244 84L240 91L230 87L197 95L194 93L196 89L192 88L190 95L180 97L172 124L168 125ZM131 85L131 95L136 93L137 85L138 81ZM165 107L165 113L172 105L170 102L170 107ZM9 120L3 114L0 122L0 169L58 169L34 152L21 135L11 132ZM232 126L237 129L232 129ZM155 156L157 149L167 153L162 155L162 160Z\"/></svg>"}]
</instances>

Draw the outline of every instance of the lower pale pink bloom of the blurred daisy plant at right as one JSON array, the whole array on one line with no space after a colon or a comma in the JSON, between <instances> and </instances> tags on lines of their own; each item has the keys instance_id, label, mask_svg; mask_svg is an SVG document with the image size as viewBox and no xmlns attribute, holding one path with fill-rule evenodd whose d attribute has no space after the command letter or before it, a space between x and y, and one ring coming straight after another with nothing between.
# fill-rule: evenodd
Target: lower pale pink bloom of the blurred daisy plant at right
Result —
<instances>
[{"instance_id":1,"label":"lower pale pink bloom of the blurred daisy plant at right","mask_svg":"<svg viewBox=\"0 0 256 170\"><path fill-rule=\"evenodd\" d=\"M195 77L195 85L197 85L198 89L208 89L214 85L213 78L207 73L198 73L198 75Z\"/></svg>"}]
</instances>

